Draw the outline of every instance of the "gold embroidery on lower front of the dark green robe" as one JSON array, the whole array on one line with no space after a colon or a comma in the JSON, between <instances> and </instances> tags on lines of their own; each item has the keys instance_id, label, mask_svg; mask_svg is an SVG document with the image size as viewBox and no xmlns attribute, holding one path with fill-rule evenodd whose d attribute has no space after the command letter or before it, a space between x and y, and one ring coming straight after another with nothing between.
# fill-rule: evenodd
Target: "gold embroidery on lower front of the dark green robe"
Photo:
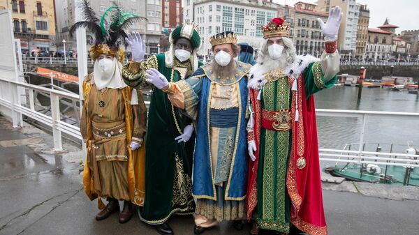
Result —
<instances>
[{"instance_id":1,"label":"gold embroidery on lower front of the dark green robe","mask_svg":"<svg viewBox=\"0 0 419 235\"><path fill-rule=\"evenodd\" d=\"M175 153L176 174L173 180L173 205L182 206L188 202L192 192L192 181L184 172L183 161Z\"/></svg>"}]
</instances>

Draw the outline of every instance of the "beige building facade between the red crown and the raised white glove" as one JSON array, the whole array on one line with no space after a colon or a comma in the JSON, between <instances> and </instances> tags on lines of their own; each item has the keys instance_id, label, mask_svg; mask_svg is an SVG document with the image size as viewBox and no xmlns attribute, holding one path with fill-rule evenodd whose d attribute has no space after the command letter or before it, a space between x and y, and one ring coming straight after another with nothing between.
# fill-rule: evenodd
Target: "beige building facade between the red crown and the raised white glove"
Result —
<instances>
[{"instance_id":1,"label":"beige building facade between the red crown and the raised white glove","mask_svg":"<svg viewBox=\"0 0 419 235\"><path fill-rule=\"evenodd\" d=\"M295 3L293 41L297 54L320 56L324 49L323 31L317 19L328 20L328 14L316 11L316 4Z\"/></svg>"}]
</instances>

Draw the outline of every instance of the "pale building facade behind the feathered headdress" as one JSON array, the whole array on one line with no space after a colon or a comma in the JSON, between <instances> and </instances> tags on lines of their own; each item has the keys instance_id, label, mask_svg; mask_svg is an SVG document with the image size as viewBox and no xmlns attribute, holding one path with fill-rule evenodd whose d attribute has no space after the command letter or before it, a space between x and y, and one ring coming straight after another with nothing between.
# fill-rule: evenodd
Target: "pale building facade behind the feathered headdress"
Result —
<instances>
[{"instance_id":1,"label":"pale building facade behind the feathered headdress","mask_svg":"<svg viewBox=\"0 0 419 235\"><path fill-rule=\"evenodd\" d=\"M69 31L75 23L75 3L77 0L55 0L57 12L57 45L62 48L62 40L66 40L67 50L76 50L75 38L71 38ZM140 20L128 31L138 31L146 43L146 53L156 54L159 52L159 41L161 36L161 10L162 0L119 0L118 3L124 10L147 17L147 21ZM164 1L164 0L163 0ZM60 3L59 3L60 2ZM90 1L90 6L95 10L96 15L101 16L105 10L112 6L112 1L96 0ZM87 31L87 46L94 43L94 36ZM129 47L127 48L128 50Z\"/></svg>"}]
</instances>

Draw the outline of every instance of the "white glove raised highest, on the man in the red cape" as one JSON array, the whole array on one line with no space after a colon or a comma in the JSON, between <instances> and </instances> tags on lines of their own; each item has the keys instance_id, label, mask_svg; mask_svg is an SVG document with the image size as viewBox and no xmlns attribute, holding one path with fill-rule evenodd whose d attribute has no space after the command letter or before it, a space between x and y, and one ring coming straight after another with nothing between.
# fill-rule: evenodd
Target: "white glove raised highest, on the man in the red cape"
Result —
<instances>
[{"instance_id":1,"label":"white glove raised highest, on the man in the red cape","mask_svg":"<svg viewBox=\"0 0 419 235\"><path fill-rule=\"evenodd\" d=\"M344 13L341 13L341 8L339 6L335 6L334 8L330 9L328 22L326 22L326 24L323 22L323 20L317 18L321 30L323 30L325 40L337 40L337 33L339 33L339 26L342 19L342 15L344 15Z\"/></svg>"}]
</instances>

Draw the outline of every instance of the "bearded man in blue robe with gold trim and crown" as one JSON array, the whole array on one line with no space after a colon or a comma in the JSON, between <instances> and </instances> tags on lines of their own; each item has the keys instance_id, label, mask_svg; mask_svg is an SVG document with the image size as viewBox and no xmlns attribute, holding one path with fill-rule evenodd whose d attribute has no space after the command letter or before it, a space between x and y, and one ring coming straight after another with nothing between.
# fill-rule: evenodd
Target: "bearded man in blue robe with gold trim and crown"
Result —
<instances>
[{"instance_id":1,"label":"bearded man in blue robe with gold trim and crown","mask_svg":"<svg viewBox=\"0 0 419 235\"><path fill-rule=\"evenodd\" d=\"M214 61L191 77L167 82L156 70L147 82L168 93L172 105L194 121L193 197L195 234L222 220L242 228L247 192L247 74L251 65L235 61L237 36L226 31L210 38Z\"/></svg>"}]
</instances>

